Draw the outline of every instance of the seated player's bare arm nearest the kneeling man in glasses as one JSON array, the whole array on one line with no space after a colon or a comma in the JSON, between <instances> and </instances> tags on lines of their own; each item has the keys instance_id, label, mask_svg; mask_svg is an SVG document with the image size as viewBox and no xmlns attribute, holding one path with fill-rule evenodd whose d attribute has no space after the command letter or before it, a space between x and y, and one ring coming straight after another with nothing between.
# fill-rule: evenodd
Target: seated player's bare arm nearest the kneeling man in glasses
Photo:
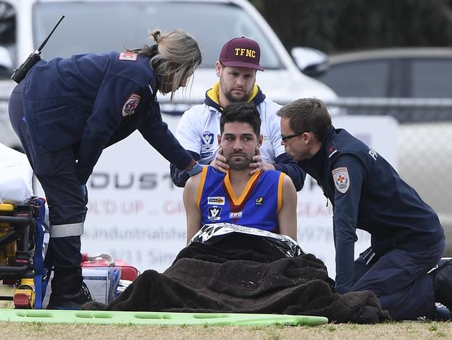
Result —
<instances>
[{"instance_id":1,"label":"seated player's bare arm nearest the kneeling man in glasses","mask_svg":"<svg viewBox=\"0 0 452 340\"><path fill-rule=\"evenodd\" d=\"M280 233L297 240L297 192L289 176L282 183L282 208L277 215Z\"/></svg>"}]
</instances>

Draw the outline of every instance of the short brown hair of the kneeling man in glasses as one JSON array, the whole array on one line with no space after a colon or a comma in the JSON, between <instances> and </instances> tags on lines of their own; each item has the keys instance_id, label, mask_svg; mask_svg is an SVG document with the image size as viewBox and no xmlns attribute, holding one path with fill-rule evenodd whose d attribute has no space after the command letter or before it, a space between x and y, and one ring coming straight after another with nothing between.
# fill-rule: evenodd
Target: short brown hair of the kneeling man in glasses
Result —
<instances>
[{"instance_id":1,"label":"short brown hair of the kneeling man in glasses","mask_svg":"<svg viewBox=\"0 0 452 340\"><path fill-rule=\"evenodd\" d=\"M316 98L294 100L279 109L277 115L289 118L289 126L294 133L312 132L318 141L323 140L332 126L328 109Z\"/></svg>"}]
</instances>

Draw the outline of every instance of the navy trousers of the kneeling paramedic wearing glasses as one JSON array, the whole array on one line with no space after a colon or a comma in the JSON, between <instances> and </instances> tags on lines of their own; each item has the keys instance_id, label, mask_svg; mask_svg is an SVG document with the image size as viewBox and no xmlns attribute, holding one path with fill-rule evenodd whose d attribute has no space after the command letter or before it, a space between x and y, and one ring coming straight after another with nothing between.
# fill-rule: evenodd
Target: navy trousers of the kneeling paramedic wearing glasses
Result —
<instances>
[{"instance_id":1,"label":"navy trousers of the kneeling paramedic wearing glasses","mask_svg":"<svg viewBox=\"0 0 452 340\"><path fill-rule=\"evenodd\" d=\"M444 254L446 241L416 252L392 249L375 263L355 261L352 291L373 291L394 320L433 316L433 279L427 274Z\"/></svg>"}]
</instances>

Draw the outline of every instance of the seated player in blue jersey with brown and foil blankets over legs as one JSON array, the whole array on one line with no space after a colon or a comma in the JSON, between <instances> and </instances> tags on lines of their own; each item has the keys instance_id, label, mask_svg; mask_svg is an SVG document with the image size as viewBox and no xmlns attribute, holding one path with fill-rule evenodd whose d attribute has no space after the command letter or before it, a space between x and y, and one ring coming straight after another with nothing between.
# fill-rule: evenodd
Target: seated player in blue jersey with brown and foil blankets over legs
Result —
<instances>
[{"instance_id":1,"label":"seated player in blue jersey with brown and foil blankets over legs","mask_svg":"<svg viewBox=\"0 0 452 340\"><path fill-rule=\"evenodd\" d=\"M225 108L218 144L229 169L204 167L186 183L187 247L165 272L146 270L110 304L88 302L83 309L390 319L371 291L333 293L324 263L302 252L291 179L248 167L259 153L260 124L253 104Z\"/></svg>"}]
</instances>

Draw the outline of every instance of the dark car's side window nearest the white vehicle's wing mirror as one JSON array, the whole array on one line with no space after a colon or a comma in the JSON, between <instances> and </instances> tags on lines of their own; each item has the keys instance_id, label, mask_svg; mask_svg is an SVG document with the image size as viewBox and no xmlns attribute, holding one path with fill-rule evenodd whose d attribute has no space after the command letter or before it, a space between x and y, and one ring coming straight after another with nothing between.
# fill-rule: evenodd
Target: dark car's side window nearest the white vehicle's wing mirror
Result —
<instances>
[{"instance_id":1,"label":"dark car's side window nearest the white vehicle's wing mirror","mask_svg":"<svg viewBox=\"0 0 452 340\"><path fill-rule=\"evenodd\" d=\"M387 60L335 64L318 80L341 97L387 97L389 68Z\"/></svg>"}]
</instances>

